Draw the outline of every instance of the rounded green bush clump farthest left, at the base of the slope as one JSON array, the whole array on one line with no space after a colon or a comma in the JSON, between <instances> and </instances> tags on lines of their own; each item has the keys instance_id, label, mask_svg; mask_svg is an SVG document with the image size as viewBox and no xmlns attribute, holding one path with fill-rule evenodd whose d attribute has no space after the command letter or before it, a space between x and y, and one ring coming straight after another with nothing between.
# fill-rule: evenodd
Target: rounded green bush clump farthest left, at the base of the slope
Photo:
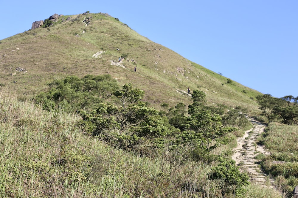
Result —
<instances>
[{"instance_id":1,"label":"rounded green bush clump farthest left, at the base of the slope","mask_svg":"<svg viewBox=\"0 0 298 198\"><path fill-rule=\"evenodd\" d=\"M43 109L64 111L89 110L109 98L119 86L110 75L68 76L49 84L49 91L38 94L36 101Z\"/></svg>"}]
</instances>

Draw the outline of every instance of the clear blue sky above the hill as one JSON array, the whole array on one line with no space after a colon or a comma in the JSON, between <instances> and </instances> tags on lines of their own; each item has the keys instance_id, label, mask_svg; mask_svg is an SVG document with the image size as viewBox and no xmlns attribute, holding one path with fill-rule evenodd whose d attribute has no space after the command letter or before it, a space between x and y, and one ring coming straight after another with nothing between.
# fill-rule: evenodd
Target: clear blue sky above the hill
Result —
<instances>
[{"instance_id":1,"label":"clear blue sky above the hill","mask_svg":"<svg viewBox=\"0 0 298 198\"><path fill-rule=\"evenodd\" d=\"M2 1L0 40L55 13L106 12L244 86L274 97L298 96L297 10L297 0Z\"/></svg>"}]
</instances>

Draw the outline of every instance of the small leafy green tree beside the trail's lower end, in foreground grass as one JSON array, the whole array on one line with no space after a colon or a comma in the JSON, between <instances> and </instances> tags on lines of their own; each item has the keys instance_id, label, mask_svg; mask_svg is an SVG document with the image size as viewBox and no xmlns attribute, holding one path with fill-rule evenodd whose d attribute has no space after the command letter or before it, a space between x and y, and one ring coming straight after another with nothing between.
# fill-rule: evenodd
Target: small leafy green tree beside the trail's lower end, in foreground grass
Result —
<instances>
[{"instance_id":1,"label":"small leafy green tree beside the trail's lower end, in foreground grass","mask_svg":"<svg viewBox=\"0 0 298 198\"><path fill-rule=\"evenodd\" d=\"M246 190L244 185L249 184L249 177L241 173L232 159L219 159L219 164L212 167L208 179L214 180L221 190L222 197L242 197Z\"/></svg>"}]
</instances>

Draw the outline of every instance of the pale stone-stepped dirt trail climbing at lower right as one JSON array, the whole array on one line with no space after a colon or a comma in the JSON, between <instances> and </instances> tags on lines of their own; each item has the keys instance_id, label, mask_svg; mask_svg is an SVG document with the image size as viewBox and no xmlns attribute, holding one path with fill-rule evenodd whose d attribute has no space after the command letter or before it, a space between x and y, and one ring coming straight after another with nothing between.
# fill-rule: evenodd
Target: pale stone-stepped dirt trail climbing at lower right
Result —
<instances>
[{"instance_id":1,"label":"pale stone-stepped dirt trail climbing at lower right","mask_svg":"<svg viewBox=\"0 0 298 198\"><path fill-rule=\"evenodd\" d=\"M240 166L240 170L248 172L252 183L273 188L272 180L258 166L260 160L254 159L260 153L270 155L270 152L265 151L264 146L255 143L257 137L264 132L266 125L255 120L251 122L254 127L247 130L243 137L238 138L232 159Z\"/></svg>"}]
</instances>

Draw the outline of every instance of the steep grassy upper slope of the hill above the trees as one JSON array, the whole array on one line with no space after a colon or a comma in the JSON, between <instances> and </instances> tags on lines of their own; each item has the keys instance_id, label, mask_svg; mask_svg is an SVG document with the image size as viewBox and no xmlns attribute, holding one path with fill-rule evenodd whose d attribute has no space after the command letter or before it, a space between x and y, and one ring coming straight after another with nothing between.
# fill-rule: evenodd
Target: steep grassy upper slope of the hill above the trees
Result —
<instances>
[{"instance_id":1,"label":"steep grassy upper slope of the hill above the trees","mask_svg":"<svg viewBox=\"0 0 298 198\"><path fill-rule=\"evenodd\" d=\"M72 20L64 21L66 18ZM86 18L88 23L86 23ZM95 54L100 56L93 56ZM254 97L259 92L193 63L174 51L154 43L126 24L102 13L60 17L54 26L25 31L0 44L2 83L26 96L47 88L47 83L66 75L82 77L106 74L131 82L145 91L145 100L189 104L190 90L206 92L214 104L246 107L256 113ZM117 64L118 58L124 57ZM137 66L137 72L134 67ZM23 68L18 72L16 68Z\"/></svg>"}]
</instances>

